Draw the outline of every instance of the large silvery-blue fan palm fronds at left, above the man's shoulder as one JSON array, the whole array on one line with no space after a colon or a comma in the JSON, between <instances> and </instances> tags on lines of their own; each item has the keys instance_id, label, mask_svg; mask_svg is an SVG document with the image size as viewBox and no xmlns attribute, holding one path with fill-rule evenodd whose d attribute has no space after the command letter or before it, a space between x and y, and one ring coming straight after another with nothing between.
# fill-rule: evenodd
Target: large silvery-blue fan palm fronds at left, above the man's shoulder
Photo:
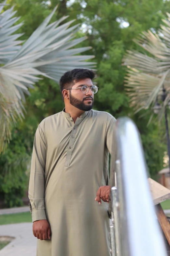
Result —
<instances>
[{"instance_id":1,"label":"large silvery-blue fan palm fronds at left, above the man's shoulder","mask_svg":"<svg viewBox=\"0 0 170 256\"><path fill-rule=\"evenodd\" d=\"M23 25L15 25L20 17L15 17L13 7L3 11L6 1L0 4L0 152L10 140L11 127L17 118L24 117L24 94L42 79L49 77L59 82L64 72L73 68L93 68L94 62L87 60L91 55L77 55L91 47L74 48L86 37L75 39L78 25L74 20L60 25L68 16L49 24L57 7L33 32L26 42L17 40L22 34L15 32Z\"/></svg>"}]
</instances>

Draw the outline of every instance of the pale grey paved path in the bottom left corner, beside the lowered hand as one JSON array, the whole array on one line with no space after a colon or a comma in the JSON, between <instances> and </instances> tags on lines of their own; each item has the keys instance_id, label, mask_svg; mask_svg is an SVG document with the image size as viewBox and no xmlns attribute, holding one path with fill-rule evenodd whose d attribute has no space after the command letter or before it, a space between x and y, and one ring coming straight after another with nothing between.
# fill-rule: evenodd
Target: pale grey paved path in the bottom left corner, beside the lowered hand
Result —
<instances>
[{"instance_id":1,"label":"pale grey paved path in the bottom left corner, beside the lowered hand","mask_svg":"<svg viewBox=\"0 0 170 256\"><path fill-rule=\"evenodd\" d=\"M35 256L37 238L33 235L32 226L32 223L0 225L0 236L15 237L0 250L0 256Z\"/></svg>"}]
</instances>

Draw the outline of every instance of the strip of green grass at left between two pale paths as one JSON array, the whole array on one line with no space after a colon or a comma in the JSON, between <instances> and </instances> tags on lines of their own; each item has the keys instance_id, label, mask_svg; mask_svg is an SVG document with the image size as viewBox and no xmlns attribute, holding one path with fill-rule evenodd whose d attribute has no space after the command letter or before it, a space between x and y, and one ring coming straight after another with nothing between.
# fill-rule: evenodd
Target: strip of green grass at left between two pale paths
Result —
<instances>
[{"instance_id":1,"label":"strip of green grass at left between two pale paths","mask_svg":"<svg viewBox=\"0 0 170 256\"><path fill-rule=\"evenodd\" d=\"M32 222L31 213L13 213L0 215L0 225L21 223L21 222Z\"/></svg>"}]
</instances>

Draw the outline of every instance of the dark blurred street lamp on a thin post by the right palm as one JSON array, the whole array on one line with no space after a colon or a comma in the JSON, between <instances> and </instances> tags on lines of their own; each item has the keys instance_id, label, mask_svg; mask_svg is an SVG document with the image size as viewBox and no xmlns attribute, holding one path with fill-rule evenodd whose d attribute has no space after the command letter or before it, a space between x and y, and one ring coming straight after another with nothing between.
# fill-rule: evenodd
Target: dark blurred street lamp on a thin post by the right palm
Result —
<instances>
[{"instance_id":1,"label":"dark blurred street lamp on a thin post by the right palm","mask_svg":"<svg viewBox=\"0 0 170 256\"><path fill-rule=\"evenodd\" d=\"M162 88L162 94L161 94L161 100L162 102L164 102L164 100L166 99L167 93L165 88ZM168 102L168 107L170 109L170 101ZM165 106L165 126L166 126L166 139L167 139L167 148L168 148L168 157L169 157L169 171L170 171L170 141L169 141L169 129L168 129L168 120L167 120L167 106ZM155 114L159 114L159 112L161 111L162 107L158 102L158 99L156 100L155 106L153 107L153 112Z\"/></svg>"}]
</instances>

